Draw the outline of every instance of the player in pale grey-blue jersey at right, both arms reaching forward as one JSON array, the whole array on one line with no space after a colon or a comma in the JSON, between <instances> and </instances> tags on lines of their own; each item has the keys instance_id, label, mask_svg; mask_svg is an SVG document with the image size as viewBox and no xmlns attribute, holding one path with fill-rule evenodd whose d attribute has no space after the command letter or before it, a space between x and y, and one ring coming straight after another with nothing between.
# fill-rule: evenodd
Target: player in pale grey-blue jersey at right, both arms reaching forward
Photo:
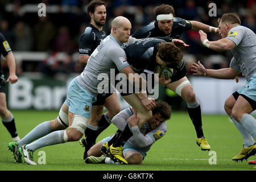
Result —
<instances>
[{"instance_id":1,"label":"player in pale grey-blue jersey at right, both arms reaching forward","mask_svg":"<svg viewBox=\"0 0 256 182\"><path fill-rule=\"evenodd\" d=\"M241 26L238 15L224 14L218 20L222 39L210 42L203 31L199 31L204 46L214 51L231 50L233 58L229 68L205 69L198 62L193 63L193 75L218 79L233 79L242 72L246 84L225 101L225 111L243 137L242 151L233 160L244 160L256 154L256 121L250 113L256 109L256 35L249 28Z\"/></svg>"}]
</instances>

